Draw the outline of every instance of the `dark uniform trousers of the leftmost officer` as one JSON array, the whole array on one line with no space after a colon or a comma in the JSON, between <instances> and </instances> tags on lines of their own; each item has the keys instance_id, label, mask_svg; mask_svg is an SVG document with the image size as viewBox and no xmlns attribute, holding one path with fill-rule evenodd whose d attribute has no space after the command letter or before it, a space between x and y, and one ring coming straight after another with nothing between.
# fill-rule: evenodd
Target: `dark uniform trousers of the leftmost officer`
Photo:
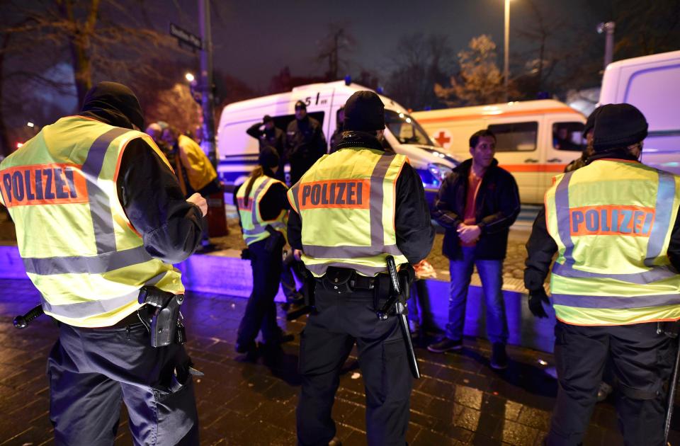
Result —
<instances>
[{"instance_id":1,"label":"dark uniform trousers of the leftmost officer","mask_svg":"<svg viewBox=\"0 0 680 446\"><path fill-rule=\"evenodd\" d=\"M182 345L153 348L142 324L60 324L47 360L55 443L113 445L122 400L135 445L198 445L190 365Z\"/></svg>"}]
</instances>

